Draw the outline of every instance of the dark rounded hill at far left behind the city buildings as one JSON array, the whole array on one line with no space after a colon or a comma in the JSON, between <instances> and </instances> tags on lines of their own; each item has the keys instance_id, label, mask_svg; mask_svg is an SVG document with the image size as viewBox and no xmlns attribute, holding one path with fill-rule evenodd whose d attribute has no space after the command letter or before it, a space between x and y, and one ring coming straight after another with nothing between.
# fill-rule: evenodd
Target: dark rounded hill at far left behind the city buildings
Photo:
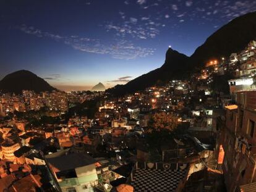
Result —
<instances>
[{"instance_id":1,"label":"dark rounded hill at far left behind the city buildings","mask_svg":"<svg viewBox=\"0 0 256 192\"><path fill-rule=\"evenodd\" d=\"M19 70L6 75L0 81L0 90L3 93L20 94L22 90L33 90L40 93L41 91L53 91L56 88L28 70Z\"/></svg>"}]
</instances>

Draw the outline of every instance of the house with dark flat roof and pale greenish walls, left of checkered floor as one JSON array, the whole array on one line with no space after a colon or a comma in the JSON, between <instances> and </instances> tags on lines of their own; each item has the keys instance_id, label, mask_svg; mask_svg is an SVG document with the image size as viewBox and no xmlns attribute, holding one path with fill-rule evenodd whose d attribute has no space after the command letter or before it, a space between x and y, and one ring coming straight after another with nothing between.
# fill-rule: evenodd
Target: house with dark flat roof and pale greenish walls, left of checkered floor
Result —
<instances>
[{"instance_id":1,"label":"house with dark flat roof and pale greenish walls, left of checkered floor","mask_svg":"<svg viewBox=\"0 0 256 192\"><path fill-rule=\"evenodd\" d=\"M98 185L95 159L84 153L53 153L46 156L60 191L92 191Z\"/></svg>"}]
</instances>

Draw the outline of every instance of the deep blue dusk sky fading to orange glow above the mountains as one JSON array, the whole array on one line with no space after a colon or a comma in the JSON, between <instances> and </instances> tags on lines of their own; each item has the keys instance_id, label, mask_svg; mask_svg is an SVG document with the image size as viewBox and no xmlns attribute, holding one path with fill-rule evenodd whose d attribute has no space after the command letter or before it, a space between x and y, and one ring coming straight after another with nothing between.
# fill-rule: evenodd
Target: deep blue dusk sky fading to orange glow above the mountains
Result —
<instances>
[{"instance_id":1,"label":"deep blue dusk sky fading to orange glow above the mountains","mask_svg":"<svg viewBox=\"0 0 256 192\"><path fill-rule=\"evenodd\" d=\"M0 79L30 70L61 90L127 83L190 56L256 1L0 0Z\"/></svg>"}]
</instances>

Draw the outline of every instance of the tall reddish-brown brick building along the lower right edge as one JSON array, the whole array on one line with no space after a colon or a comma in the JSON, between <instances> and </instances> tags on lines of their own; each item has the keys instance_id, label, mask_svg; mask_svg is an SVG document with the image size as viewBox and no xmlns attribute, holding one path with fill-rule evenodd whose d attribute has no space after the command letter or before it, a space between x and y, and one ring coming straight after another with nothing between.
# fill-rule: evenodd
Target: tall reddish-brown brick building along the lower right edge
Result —
<instances>
[{"instance_id":1,"label":"tall reddish-brown brick building along the lower right edge","mask_svg":"<svg viewBox=\"0 0 256 192\"><path fill-rule=\"evenodd\" d=\"M224 150L223 173L228 191L256 182L256 91L236 93L226 106L226 125L218 145Z\"/></svg>"}]
</instances>

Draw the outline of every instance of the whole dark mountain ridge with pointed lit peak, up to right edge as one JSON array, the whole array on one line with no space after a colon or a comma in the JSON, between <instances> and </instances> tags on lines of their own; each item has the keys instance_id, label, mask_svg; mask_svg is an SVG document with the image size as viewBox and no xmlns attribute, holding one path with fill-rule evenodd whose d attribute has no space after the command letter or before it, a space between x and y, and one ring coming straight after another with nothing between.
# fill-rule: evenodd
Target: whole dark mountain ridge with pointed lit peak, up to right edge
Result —
<instances>
[{"instance_id":1,"label":"whole dark mountain ridge with pointed lit peak, up to right edge","mask_svg":"<svg viewBox=\"0 0 256 192\"><path fill-rule=\"evenodd\" d=\"M231 53L244 49L249 41L255 40L255 20L256 12L237 17L209 36L190 57L169 48L166 60L160 68L137 77L126 85L116 85L107 91L118 96L171 79L189 77L190 73L202 68L210 59L229 57Z\"/></svg>"}]
</instances>

